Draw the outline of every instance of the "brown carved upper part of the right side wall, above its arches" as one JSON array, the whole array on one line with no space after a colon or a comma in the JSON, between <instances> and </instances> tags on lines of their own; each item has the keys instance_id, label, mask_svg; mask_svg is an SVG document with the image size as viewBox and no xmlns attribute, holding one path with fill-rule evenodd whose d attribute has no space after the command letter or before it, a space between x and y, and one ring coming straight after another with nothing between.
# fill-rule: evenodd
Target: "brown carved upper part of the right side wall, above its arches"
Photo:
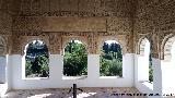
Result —
<instances>
[{"instance_id":1,"label":"brown carved upper part of the right side wall, above its arches","mask_svg":"<svg viewBox=\"0 0 175 98\"><path fill-rule=\"evenodd\" d=\"M135 4L135 45L148 37L153 57L163 59L163 42L175 34L175 0L138 0Z\"/></svg>"}]
</instances>

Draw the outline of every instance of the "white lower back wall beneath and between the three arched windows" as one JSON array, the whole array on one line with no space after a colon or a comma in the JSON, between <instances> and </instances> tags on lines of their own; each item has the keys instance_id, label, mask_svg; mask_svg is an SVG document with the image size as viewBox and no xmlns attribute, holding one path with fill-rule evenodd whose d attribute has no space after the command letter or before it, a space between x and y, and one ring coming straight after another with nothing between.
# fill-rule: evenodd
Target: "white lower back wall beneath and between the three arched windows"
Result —
<instances>
[{"instance_id":1,"label":"white lower back wall beneath and between the three arched windows","mask_svg":"<svg viewBox=\"0 0 175 98\"><path fill-rule=\"evenodd\" d=\"M62 79L63 60L60 54L49 57L49 78L22 79L22 56L12 56L12 88L13 89L40 89L40 88L67 88L72 84L78 87L133 87L133 54L122 57L122 78L100 77L100 56L89 54L88 77L84 79Z\"/></svg>"}]
</instances>

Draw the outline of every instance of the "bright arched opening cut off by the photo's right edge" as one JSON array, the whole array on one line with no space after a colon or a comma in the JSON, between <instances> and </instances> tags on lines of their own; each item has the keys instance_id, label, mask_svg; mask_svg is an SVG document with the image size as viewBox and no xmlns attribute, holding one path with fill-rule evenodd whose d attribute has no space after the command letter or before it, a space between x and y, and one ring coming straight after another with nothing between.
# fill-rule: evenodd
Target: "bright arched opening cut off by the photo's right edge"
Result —
<instances>
[{"instance_id":1,"label":"bright arched opening cut off by the photo's right edge","mask_svg":"<svg viewBox=\"0 0 175 98\"><path fill-rule=\"evenodd\" d=\"M164 93L175 93L175 36L165 38L163 46L162 83Z\"/></svg>"}]
</instances>

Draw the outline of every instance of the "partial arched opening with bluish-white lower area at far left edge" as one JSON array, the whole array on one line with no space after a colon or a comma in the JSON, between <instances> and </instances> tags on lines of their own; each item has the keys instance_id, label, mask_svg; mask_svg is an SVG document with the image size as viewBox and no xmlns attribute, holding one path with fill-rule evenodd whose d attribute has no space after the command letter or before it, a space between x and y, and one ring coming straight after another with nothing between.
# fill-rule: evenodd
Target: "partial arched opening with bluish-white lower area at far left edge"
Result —
<instances>
[{"instance_id":1,"label":"partial arched opening with bluish-white lower area at far left edge","mask_svg":"<svg viewBox=\"0 0 175 98\"><path fill-rule=\"evenodd\" d=\"M5 57L5 44L0 36L0 84L7 82L7 57Z\"/></svg>"}]
</instances>

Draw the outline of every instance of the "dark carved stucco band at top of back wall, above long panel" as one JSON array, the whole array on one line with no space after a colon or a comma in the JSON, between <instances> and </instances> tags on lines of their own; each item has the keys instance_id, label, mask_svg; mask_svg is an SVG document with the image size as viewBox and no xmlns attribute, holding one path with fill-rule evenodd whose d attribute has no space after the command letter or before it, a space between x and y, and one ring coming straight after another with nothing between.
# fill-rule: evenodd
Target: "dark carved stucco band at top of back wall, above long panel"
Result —
<instances>
[{"instance_id":1,"label":"dark carved stucco band at top of back wall, above long panel","mask_svg":"<svg viewBox=\"0 0 175 98\"><path fill-rule=\"evenodd\" d=\"M23 0L21 16L130 16L130 0Z\"/></svg>"}]
</instances>

